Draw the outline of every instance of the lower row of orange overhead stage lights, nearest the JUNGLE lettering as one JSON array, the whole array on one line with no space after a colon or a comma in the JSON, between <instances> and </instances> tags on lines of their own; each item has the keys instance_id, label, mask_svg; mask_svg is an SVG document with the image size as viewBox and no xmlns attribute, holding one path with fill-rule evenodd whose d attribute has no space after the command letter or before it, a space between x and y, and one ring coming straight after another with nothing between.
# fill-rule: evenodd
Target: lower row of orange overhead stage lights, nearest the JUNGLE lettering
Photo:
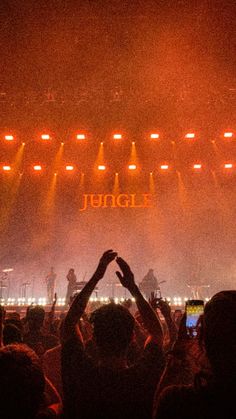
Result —
<instances>
[{"instance_id":1,"label":"lower row of orange overhead stage lights, nearest the JUNGLE lettering","mask_svg":"<svg viewBox=\"0 0 236 419\"><path fill-rule=\"evenodd\" d=\"M0 166L3 172L11 172L12 170L14 170L14 167L11 165L2 165ZM231 162L227 162L223 164L223 169L225 170L231 170L235 168L235 164L231 163ZM200 172L201 170L203 170L205 168L205 166L202 163L194 163L192 164L192 166L190 167L190 169L192 169L195 172ZM41 164L35 164L32 166L33 171L35 172L43 172L44 170L44 166L42 166ZM73 171L76 171L77 167L74 165L66 165L64 166L64 170L68 173L71 173ZM97 170L99 171L106 171L108 168L106 165L104 164L99 164L97 166ZM131 171L135 171L138 169L138 166L136 164L129 164L128 165L128 170ZM172 166L170 166L169 164L161 164L158 169L162 172L168 172L171 169L173 169ZM150 172L150 174L152 174L153 172ZM57 172L54 173L55 175L57 175ZM116 173L116 175L118 175L118 173Z\"/></svg>"}]
</instances>

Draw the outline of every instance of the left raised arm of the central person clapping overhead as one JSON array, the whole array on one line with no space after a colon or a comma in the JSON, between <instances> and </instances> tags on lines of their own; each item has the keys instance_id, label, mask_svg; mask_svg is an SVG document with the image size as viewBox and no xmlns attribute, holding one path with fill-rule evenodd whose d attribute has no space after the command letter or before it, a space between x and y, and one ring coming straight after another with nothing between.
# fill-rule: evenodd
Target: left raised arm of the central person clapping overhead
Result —
<instances>
[{"instance_id":1,"label":"left raised arm of the central person clapping overhead","mask_svg":"<svg viewBox=\"0 0 236 419\"><path fill-rule=\"evenodd\" d=\"M64 321L63 331L62 331L62 340L65 342L73 336L77 336L82 340L81 334L79 333L77 323L81 318L87 304L89 297L91 296L93 290L95 289L97 283L103 278L107 266L111 263L117 253L113 250L107 250L101 257L98 267L94 272L93 276L84 286L82 291L77 295L73 301Z\"/></svg>"}]
</instances>

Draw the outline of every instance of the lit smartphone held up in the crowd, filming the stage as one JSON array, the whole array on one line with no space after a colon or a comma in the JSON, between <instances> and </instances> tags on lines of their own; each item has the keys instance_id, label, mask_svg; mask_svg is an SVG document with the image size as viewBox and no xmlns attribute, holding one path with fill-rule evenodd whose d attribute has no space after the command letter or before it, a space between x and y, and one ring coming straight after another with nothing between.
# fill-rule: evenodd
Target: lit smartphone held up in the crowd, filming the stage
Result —
<instances>
[{"instance_id":1,"label":"lit smartphone held up in the crowd, filming the stage","mask_svg":"<svg viewBox=\"0 0 236 419\"><path fill-rule=\"evenodd\" d=\"M188 336L196 338L198 336L198 321L204 311L203 300L188 300L186 302L186 329Z\"/></svg>"}]
</instances>

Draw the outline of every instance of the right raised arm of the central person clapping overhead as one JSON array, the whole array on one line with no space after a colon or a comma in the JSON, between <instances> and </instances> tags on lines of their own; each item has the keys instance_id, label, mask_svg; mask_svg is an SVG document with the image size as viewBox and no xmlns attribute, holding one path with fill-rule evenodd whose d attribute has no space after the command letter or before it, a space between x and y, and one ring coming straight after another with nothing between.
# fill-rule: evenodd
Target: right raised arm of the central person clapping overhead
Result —
<instances>
[{"instance_id":1,"label":"right raised arm of the central person clapping overhead","mask_svg":"<svg viewBox=\"0 0 236 419\"><path fill-rule=\"evenodd\" d=\"M130 294L133 298L135 298L136 305L140 312L140 315L143 320L143 324L147 329L150 338L152 341L158 343L160 346L163 345L163 333L162 327L159 322L159 319L151 308L149 303L145 300L143 295L141 294L138 286L134 281L134 274L131 271L129 265L124 261L124 259L117 257L116 258L117 264L119 265L122 274L120 272L116 272L121 284L128 289Z\"/></svg>"}]
</instances>

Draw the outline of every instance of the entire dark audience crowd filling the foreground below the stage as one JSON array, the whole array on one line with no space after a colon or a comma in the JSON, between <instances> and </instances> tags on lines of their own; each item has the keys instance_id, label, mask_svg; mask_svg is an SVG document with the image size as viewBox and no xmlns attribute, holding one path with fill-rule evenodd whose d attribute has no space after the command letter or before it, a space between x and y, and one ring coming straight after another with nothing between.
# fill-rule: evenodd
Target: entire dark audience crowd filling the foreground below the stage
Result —
<instances>
[{"instance_id":1,"label":"entire dark audience crowd filling the foreground below the stage","mask_svg":"<svg viewBox=\"0 0 236 419\"><path fill-rule=\"evenodd\" d=\"M135 303L91 307L113 264ZM71 305L24 318L0 307L2 419L235 419L236 291L204 307L190 337L186 314L147 301L127 262L106 251Z\"/></svg>"}]
</instances>

